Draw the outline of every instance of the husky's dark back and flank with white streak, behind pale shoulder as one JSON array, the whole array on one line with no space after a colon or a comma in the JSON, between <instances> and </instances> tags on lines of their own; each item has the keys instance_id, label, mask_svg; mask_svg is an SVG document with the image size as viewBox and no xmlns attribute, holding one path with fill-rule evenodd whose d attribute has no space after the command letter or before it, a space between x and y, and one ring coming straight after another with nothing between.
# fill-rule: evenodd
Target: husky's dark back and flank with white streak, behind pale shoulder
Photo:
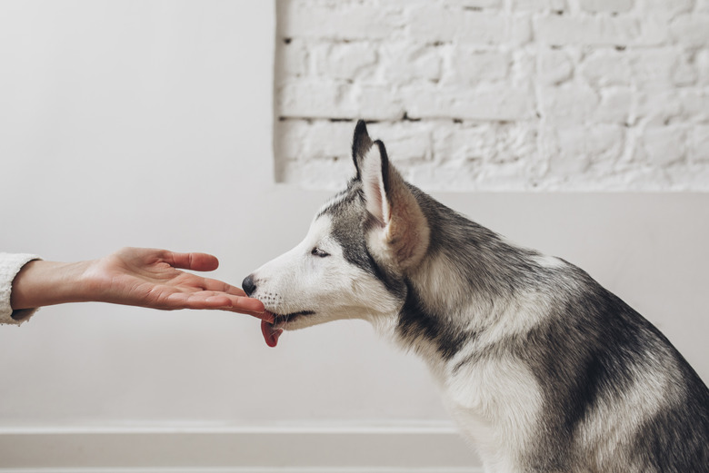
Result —
<instances>
[{"instance_id":1,"label":"husky's dark back and flank with white streak, behind pale shoulder","mask_svg":"<svg viewBox=\"0 0 709 473\"><path fill-rule=\"evenodd\" d=\"M578 285L557 286L549 319L505 349L523 360L543 393L525 466L709 471L709 389L624 301L573 266L560 276Z\"/></svg>"}]
</instances>

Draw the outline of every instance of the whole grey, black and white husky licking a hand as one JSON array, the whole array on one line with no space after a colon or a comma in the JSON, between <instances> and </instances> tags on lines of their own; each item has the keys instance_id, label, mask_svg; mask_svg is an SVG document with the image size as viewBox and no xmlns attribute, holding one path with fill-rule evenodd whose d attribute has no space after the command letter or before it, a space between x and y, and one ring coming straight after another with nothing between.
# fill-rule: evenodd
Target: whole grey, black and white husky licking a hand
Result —
<instances>
[{"instance_id":1,"label":"whole grey, black and white husky licking a hand","mask_svg":"<svg viewBox=\"0 0 709 473\"><path fill-rule=\"evenodd\" d=\"M487 472L709 471L709 389L649 321L404 182L362 121L352 154L305 240L244 281L266 343L369 320L425 360Z\"/></svg>"}]
</instances>

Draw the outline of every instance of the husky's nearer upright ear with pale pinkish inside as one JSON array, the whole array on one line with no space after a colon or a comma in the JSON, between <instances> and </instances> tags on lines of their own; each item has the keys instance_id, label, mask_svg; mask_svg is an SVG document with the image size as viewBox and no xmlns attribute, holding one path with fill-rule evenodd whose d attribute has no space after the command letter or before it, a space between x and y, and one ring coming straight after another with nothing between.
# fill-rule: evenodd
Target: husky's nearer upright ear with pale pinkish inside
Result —
<instances>
[{"instance_id":1,"label":"husky's nearer upright ear with pale pinkish inside","mask_svg":"<svg viewBox=\"0 0 709 473\"><path fill-rule=\"evenodd\" d=\"M375 251L403 270L413 267L428 248L428 222L412 189L389 163L384 143L372 143L357 170L366 209L374 218L369 235Z\"/></svg>"}]
</instances>

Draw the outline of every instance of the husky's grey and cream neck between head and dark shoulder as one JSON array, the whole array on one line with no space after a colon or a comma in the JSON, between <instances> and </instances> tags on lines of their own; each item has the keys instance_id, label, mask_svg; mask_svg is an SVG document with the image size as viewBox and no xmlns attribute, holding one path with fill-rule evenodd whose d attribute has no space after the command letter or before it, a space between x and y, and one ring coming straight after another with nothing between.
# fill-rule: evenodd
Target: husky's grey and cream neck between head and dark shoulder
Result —
<instances>
[{"instance_id":1,"label":"husky's grey and cream neck between head and dark shoulder","mask_svg":"<svg viewBox=\"0 0 709 473\"><path fill-rule=\"evenodd\" d=\"M396 314L394 339L419 353L434 371L455 364L473 346L534 323L530 268L540 255L514 246L438 202L426 201L431 247L405 276L406 298ZM535 296L534 296L535 297ZM534 307L534 304L531 304Z\"/></svg>"}]
</instances>

